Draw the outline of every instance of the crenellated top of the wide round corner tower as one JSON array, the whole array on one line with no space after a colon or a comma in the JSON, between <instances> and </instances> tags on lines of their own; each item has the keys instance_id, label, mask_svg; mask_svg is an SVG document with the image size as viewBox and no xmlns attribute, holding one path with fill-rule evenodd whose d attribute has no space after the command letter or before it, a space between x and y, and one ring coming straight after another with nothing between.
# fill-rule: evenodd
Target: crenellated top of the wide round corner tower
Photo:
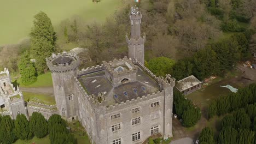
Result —
<instances>
[{"instance_id":1,"label":"crenellated top of the wide round corner tower","mask_svg":"<svg viewBox=\"0 0 256 144\"><path fill-rule=\"evenodd\" d=\"M51 57L46 58L49 69L55 73L65 73L75 70L79 66L79 57L75 53L52 53Z\"/></svg>"}]
</instances>

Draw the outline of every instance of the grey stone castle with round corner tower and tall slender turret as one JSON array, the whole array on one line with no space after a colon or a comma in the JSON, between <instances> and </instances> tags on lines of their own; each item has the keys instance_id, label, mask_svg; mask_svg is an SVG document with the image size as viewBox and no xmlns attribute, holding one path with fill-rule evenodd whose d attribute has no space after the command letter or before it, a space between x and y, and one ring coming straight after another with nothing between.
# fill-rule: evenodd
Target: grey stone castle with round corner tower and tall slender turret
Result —
<instances>
[{"instance_id":1,"label":"grey stone castle with round corner tower and tall slender turret","mask_svg":"<svg viewBox=\"0 0 256 144\"><path fill-rule=\"evenodd\" d=\"M46 58L59 115L78 119L92 143L142 143L156 134L172 136L175 79L156 77L144 67L146 37L141 37L138 8L131 8L130 19L129 58L82 70L74 53Z\"/></svg>"}]
</instances>

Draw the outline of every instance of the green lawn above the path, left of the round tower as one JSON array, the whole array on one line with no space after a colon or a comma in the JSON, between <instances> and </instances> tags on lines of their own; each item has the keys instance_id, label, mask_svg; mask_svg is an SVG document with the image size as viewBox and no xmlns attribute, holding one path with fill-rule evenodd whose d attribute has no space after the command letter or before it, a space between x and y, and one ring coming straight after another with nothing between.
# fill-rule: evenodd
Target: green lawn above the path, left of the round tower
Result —
<instances>
[{"instance_id":1,"label":"green lawn above the path, left of the round tower","mask_svg":"<svg viewBox=\"0 0 256 144\"><path fill-rule=\"evenodd\" d=\"M51 79L50 72L48 72L46 74L39 75L37 77L37 81L32 83L31 85L22 85L22 83L20 82L20 77L19 77L19 79L16 80L16 82L15 82L15 79L13 79L13 80L14 80L14 83L19 83L20 87L31 88L31 87L51 87L51 86L53 86L53 80Z\"/></svg>"}]
</instances>

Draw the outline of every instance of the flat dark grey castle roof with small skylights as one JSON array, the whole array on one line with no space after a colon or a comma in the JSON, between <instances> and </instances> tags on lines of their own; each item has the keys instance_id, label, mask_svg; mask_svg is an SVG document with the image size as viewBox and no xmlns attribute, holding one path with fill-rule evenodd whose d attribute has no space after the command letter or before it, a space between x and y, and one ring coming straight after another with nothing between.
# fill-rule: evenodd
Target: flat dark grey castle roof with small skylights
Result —
<instances>
[{"instance_id":1,"label":"flat dark grey castle roof with small skylights","mask_svg":"<svg viewBox=\"0 0 256 144\"><path fill-rule=\"evenodd\" d=\"M158 83L152 77L137 65L132 65L132 67L138 69L136 81L124 83L119 86L113 86L103 70L82 76L79 81L88 94L98 95L99 93L103 93L109 105L160 91ZM121 69L120 67L117 68L119 70Z\"/></svg>"}]
</instances>

